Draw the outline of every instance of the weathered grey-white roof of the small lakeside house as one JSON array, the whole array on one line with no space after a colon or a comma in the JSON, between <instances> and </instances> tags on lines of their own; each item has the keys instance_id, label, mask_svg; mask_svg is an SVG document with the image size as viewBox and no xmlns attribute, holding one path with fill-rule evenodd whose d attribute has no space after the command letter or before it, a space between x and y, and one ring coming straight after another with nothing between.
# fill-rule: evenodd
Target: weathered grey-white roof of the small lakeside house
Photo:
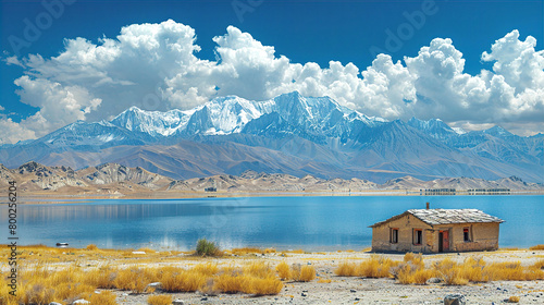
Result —
<instances>
[{"instance_id":1,"label":"weathered grey-white roof of the small lakeside house","mask_svg":"<svg viewBox=\"0 0 544 305\"><path fill-rule=\"evenodd\" d=\"M491 216L478 209L410 209L387 220L369 225L369 228L380 227L384 223L409 213L430 225L449 223L505 222L500 218Z\"/></svg>"}]
</instances>

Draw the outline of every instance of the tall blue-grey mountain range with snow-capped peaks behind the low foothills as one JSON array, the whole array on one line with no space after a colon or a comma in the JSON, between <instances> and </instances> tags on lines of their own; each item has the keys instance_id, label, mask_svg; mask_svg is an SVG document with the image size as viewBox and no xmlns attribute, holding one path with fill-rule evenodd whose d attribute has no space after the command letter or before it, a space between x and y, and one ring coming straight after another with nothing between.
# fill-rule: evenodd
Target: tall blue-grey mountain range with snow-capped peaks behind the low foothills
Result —
<instances>
[{"instance_id":1,"label":"tall blue-grey mountain range with snow-capped peaks behind the low foothills","mask_svg":"<svg viewBox=\"0 0 544 305\"><path fill-rule=\"evenodd\" d=\"M174 179L255 170L376 182L407 174L543 182L543 135L520 137L499 126L465 132L440 119L390 122L294 91L265 101L221 97L186 111L132 107L111 121L78 121L0 146L0 163L118 162Z\"/></svg>"}]
</instances>

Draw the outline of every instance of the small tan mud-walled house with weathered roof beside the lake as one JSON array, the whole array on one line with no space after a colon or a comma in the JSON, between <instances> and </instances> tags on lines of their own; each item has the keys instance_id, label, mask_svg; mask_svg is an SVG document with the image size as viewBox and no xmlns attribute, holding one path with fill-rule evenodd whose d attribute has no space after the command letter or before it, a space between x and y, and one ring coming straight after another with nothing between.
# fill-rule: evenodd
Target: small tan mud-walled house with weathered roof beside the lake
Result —
<instances>
[{"instance_id":1,"label":"small tan mud-walled house with weathered roof beside the lake","mask_svg":"<svg viewBox=\"0 0 544 305\"><path fill-rule=\"evenodd\" d=\"M372 228L373 252L472 252L498 248L504 220L478 209L410 209Z\"/></svg>"}]
</instances>

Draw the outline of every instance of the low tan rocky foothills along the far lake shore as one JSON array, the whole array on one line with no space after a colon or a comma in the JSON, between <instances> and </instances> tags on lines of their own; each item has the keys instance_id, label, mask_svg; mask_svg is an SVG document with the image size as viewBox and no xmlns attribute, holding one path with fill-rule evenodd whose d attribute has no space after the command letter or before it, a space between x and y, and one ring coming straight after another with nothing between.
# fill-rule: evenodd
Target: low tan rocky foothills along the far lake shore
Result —
<instances>
[{"instance_id":1,"label":"low tan rocky foothills along the far lake shore","mask_svg":"<svg viewBox=\"0 0 544 305\"><path fill-rule=\"evenodd\" d=\"M239 175L215 174L206 178L174 180L143 168L129 168L119 163L73 170L70 167L47 167L35 161L16 169L0 164L0 185L17 182L22 194L46 192L57 195L113 194L129 195L153 192L196 192L213 186L218 192L366 192L366 191L419 191L422 188L508 188L511 191L543 192L544 185L527 183L510 176L496 181L471 178L446 178L422 181L412 176L396 178L378 184L369 180L330 179L324 180L307 174L294 176L283 173L265 173L246 170Z\"/></svg>"}]
</instances>

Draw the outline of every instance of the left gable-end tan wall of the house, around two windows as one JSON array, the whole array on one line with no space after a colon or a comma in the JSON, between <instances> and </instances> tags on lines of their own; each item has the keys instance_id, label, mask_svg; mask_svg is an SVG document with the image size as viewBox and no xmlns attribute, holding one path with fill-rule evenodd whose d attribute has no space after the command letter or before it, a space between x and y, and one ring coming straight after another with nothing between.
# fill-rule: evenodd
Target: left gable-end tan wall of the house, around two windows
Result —
<instances>
[{"instance_id":1,"label":"left gable-end tan wall of the house, around two windows","mask_svg":"<svg viewBox=\"0 0 544 305\"><path fill-rule=\"evenodd\" d=\"M398 243L390 242L392 228L398 228ZM413 244L413 229L422 229L421 245ZM428 230L431 225L424 223L412 215L405 215L398 219L372 228L372 251L374 252L430 252L432 240Z\"/></svg>"}]
</instances>

